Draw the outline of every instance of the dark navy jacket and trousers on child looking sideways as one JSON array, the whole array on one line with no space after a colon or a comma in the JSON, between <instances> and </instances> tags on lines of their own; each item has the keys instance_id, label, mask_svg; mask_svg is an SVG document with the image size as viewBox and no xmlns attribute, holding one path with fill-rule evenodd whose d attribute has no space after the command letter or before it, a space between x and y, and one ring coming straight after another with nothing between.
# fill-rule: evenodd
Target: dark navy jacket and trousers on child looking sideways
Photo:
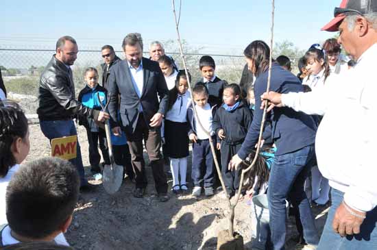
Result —
<instances>
[{"instance_id":1,"label":"dark navy jacket and trousers on child looking sideways","mask_svg":"<svg viewBox=\"0 0 377 250\"><path fill-rule=\"evenodd\" d=\"M241 148L247 130L252 124L252 114L243 101L238 101L232 107L221 105L213 119L213 130L218 135L224 130L225 138L221 140L221 164L228 166L233 155ZM217 138L219 140L219 138ZM230 171L227 167L221 169L226 188L231 193L239 188L241 168Z\"/></svg>"}]
</instances>

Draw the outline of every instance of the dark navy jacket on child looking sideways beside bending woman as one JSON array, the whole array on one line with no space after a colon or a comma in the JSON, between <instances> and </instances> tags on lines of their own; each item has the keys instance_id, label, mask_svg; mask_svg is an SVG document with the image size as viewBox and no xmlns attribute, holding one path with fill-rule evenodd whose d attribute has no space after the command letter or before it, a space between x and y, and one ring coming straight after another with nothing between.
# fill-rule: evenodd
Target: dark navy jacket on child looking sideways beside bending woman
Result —
<instances>
[{"instance_id":1,"label":"dark navy jacket on child looking sideways beside bending woman","mask_svg":"<svg viewBox=\"0 0 377 250\"><path fill-rule=\"evenodd\" d=\"M213 130L216 135L218 136L219 130L223 129L225 135L223 142L230 145L241 144L245 140L250 125L252 125L252 112L243 101L230 112L221 106L213 118Z\"/></svg>"}]
</instances>

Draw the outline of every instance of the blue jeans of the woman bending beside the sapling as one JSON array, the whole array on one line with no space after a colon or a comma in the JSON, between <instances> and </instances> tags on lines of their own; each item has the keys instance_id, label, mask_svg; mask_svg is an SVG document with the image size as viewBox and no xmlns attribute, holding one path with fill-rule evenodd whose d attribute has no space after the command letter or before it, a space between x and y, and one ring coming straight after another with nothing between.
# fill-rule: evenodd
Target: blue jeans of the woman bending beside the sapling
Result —
<instances>
[{"instance_id":1,"label":"blue jeans of the woman bending beside the sapling","mask_svg":"<svg viewBox=\"0 0 377 250\"><path fill-rule=\"evenodd\" d=\"M287 234L285 200L289 199L300 211L306 243L317 246L317 228L304 182L313 166L314 145L284 155L276 155L271 166L267 197L269 203L269 226L273 249L284 249Z\"/></svg>"}]
</instances>

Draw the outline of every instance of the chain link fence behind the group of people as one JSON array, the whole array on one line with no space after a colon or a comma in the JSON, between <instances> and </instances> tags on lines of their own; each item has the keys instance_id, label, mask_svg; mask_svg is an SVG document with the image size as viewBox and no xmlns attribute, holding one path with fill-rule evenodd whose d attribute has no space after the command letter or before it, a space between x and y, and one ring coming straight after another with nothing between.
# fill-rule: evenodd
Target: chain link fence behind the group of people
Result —
<instances>
[{"instance_id":1,"label":"chain link fence behind the group of people","mask_svg":"<svg viewBox=\"0 0 377 250\"><path fill-rule=\"evenodd\" d=\"M0 68L5 86L9 92L23 95L37 95L38 81L43 69L51 60L55 51L53 49L1 49L0 48ZM116 51L119 58L123 59L123 52ZM145 57L149 57L148 52L144 52ZM169 53L182 68L182 60L178 53ZM199 79L199 58L204 55L200 53L186 53L185 58L193 80ZM212 55L217 64L217 75L228 82L239 82L242 69L245 64L241 55ZM101 51L80 50L77 60L73 65L73 77L77 89L84 87L84 69L93 66L99 69L102 63ZM101 75L100 78L101 79Z\"/></svg>"}]
</instances>

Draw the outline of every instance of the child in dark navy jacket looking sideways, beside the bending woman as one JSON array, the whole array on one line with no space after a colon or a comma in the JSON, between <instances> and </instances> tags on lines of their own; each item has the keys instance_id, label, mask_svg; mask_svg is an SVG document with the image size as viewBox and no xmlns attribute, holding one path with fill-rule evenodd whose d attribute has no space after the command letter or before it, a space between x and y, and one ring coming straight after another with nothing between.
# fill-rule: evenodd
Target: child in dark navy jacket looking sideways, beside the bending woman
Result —
<instances>
[{"instance_id":1,"label":"child in dark navy jacket looking sideways, beside the bending woman","mask_svg":"<svg viewBox=\"0 0 377 250\"><path fill-rule=\"evenodd\" d=\"M213 119L213 129L220 142L217 149L221 151L221 174L226 185L228 195L234 195L239 188L241 168L230 170L230 159L241 148L247 130L252 124L252 114L247 104L241 100L241 88L237 84L230 84L223 91L223 105L217 110Z\"/></svg>"}]
</instances>

